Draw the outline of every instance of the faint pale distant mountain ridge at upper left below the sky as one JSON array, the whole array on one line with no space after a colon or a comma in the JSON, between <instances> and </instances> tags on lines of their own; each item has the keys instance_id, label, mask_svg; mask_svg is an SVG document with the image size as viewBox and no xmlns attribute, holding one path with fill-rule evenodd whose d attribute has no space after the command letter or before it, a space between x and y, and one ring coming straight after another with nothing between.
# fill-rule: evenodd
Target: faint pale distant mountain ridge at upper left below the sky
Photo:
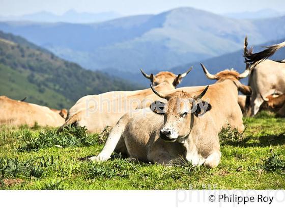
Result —
<instances>
[{"instance_id":1,"label":"faint pale distant mountain ridge at upper left below the sky","mask_svg":"<svg viewBox=\"0 0 285 209\"><path fill-rule=\"evenodd\" d=\"M71 23L91 23L102 22L121 17L116 12L87 13L69 10L63 15L55 15L50 12L42 11L22 16L0 16L2 21L35 21L35 22L71 22Z\"/></svg>"}]
</instances>

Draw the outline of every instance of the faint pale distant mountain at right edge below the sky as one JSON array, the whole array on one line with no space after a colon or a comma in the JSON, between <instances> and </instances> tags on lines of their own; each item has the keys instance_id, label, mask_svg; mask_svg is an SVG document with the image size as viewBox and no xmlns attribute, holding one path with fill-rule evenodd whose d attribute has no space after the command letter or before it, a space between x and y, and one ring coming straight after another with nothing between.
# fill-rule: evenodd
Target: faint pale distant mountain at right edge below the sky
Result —
<instances>
[{"instance_id":1,"label":"faint pale distant mountain at right edge below the sky","mask_svg":"<svg viewBox=\"0 0 285 209\"><path fill-rule=\"evenodd\" d=\"M283 16L285 15L285 12L278 12L273 9L263 9L256 12L237 12L237 13L226 13L223 15L234 19L264 19L264 18Z\"/></svg>"}]
</instances>

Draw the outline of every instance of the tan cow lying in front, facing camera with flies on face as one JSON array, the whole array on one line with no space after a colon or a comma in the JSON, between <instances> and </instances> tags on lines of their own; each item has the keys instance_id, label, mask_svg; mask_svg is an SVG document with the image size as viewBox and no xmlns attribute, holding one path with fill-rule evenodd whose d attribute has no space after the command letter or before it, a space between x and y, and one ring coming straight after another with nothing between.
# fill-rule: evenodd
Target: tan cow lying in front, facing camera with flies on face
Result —
<instances>
[{"instance_id":1,"label":"tan cow lying in front, facing camera with flies on face","mask_svg":"<svg viewBox=\"0 0 285 209\"><path fill-rule=\"evenodd\" d=\"M211 105L205 106L201 100L208 87L199 95L184 91L164 95L151 88L167 100L159 104L163 111L156 107L125 114L111 130L103 150L89 160L106 161L117 151L143 162L169 165L188 161L217 167L221 157L218 132Z\"/></svg>"}]
</instances>

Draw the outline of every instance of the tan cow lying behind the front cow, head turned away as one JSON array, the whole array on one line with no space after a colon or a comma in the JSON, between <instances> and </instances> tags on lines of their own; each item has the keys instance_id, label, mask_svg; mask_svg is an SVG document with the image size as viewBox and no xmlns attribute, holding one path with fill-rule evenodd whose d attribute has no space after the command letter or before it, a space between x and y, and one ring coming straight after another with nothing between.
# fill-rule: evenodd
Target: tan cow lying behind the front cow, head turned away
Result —
<instances>
[{"instance_id":1,"label":"tan cow lying behind the front cow, head turned away","mask_svg":"<svg viewBox=\"0 0 285 209\"><path fill-rule=\"evenodd\" d=\"M201 64L201 66L208 79L217 80L215 84L209 86L205 98L209 98L211 101L213 109L211 115L215 121L218 131L220 132L222 128L230 125L232 129L237 128L238 131L242 133L244 131L244 125L242 120L242 111L238 105L238 92L240 91L245 95L250 95L251 88L241 84L239 80L245 78L249 71L245 70L243 73L238 73L233 69L226 69L213 75L209 73L203 64ZM197 92L204 88L205 86L182 87L168 91L168 93L185 91L197 94ZM145 100L165 101L165 99L159 99L155 94L146 97ZM143 101L143 103L145 102ZM150 103L148 103L148 105L150 105Z\"/></svg>"}]
</instances>

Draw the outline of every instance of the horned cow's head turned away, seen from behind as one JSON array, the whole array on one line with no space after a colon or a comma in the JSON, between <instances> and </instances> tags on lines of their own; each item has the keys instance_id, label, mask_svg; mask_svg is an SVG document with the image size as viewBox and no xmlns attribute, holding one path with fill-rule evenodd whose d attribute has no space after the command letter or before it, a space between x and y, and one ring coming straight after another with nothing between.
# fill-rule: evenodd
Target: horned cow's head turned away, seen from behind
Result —
<instances>
[{"instance_id":1,"label":"horned cow's head turned away, seen from behind","mask_svg":"<svg viewBox=\"0 0 285 209\"><path fill-rule=\"evenodd\" d=\"M216 74L211 74L202 63L201 66L208 79L217 80L217 82L222 82L224 80L232 80L240 92L242 92L244 95L251 95L252 89L249 86L245 86L242 83L240 83L241 79L244 79L245 77L248 76L249 74L248 69L246 69L243 73L239 73L234 69L231 70L227 69L220 71Z\"/></svg>"}]
</instances>

